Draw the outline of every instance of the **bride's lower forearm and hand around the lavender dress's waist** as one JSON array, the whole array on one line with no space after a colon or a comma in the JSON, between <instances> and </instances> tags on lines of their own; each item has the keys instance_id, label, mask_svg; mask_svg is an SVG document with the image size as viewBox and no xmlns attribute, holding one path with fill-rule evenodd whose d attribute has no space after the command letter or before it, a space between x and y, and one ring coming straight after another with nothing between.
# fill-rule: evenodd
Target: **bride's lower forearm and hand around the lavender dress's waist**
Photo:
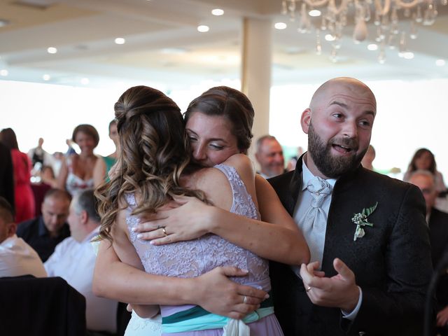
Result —
<instances>
[{"instance_id":1,"label":"bride's lower forearm and hand around the lavender dress's waist","mask_svg":"<svg viewBox=\"0 0 448 336\"><path fill-rule=\"evenodd\" d=\"M258 308L267 293L230 281L246 276L235 267L218 267L193 279L148 274L121 262L109 241L99 245L94 295L134 304L197 304L214 314L242 318ZM243 304L244 295L247 303Z\"/></svg>"}]
</instances>

